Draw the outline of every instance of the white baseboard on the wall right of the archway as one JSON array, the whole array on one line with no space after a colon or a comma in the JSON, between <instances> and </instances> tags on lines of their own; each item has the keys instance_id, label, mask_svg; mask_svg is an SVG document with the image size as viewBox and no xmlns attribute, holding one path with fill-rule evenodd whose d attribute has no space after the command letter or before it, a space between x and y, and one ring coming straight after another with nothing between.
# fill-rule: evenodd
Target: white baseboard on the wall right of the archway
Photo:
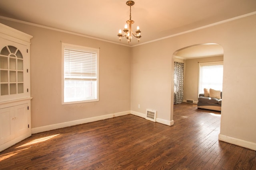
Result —
<instances>
[{"instance_id":1,"label":"white baseboard on the wall right of the archway","mask_svg":"<svg viewBox=\"0 0 256 170\"><path fill-rule=\"evenodd\" d=\"M234 145L238 145L240 147L244 147L244 148L247 148L247 149L256 150L256 143L244 141L242 139L237 139L237 138L234 138L234 137L229 137L229 136L226 136L226 135L219 134L219 140L223 141L223 142L226 142L226 143L231 143L231 144L234 144Z\"/></svg>"}]
</instances>

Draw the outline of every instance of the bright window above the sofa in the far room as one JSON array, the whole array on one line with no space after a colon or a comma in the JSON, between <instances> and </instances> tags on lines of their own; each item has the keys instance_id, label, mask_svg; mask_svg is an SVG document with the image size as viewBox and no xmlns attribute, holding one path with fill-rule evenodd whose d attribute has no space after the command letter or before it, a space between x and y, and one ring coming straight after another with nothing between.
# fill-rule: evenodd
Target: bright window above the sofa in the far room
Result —
<instances>
[{"instance_id":1,"label":"bright window above the sofa in the far room","mask_svg":"<svg viewBox=\"0 0 256 170\"><path fill-rule=\"evenodd\" d=\"M204 88L222 91L223 62L199 63L199 94Z\"/></svg>"}]
</instances>

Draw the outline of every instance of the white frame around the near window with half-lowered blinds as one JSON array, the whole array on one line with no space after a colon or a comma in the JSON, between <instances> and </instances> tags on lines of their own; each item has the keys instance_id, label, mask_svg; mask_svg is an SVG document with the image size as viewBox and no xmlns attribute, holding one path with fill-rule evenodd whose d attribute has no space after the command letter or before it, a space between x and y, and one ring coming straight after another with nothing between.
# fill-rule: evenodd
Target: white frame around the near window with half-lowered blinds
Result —
<instances>
[{"instance_id":1,"label":"white frame around the near window with half-lowered blinds","mask_svg":"<svg viewBox=\"0 0 256 170\"><path fill-rule=\"evenodd\" d=\"M65 82L65 79L64 79L64 74L65 74L65 72L64 72L64 69L65 69L64 68L64 49L65 48L96 52L96 54L97 54L97 57L96 57L96 86L97 86L97 88L95 89L95 91L96 91L95 98L85 99L85 100L77 100L77 101L73 101L73 102L64 102L64 82ZM85 46L81 46L81 45L62 43L62 105L87 103L87 102L98 102L99 101L99 55L100 55L100 49L85 47ZM95 88L95 86L94 86L94 88Z\"/></svg>"}]
</instances>

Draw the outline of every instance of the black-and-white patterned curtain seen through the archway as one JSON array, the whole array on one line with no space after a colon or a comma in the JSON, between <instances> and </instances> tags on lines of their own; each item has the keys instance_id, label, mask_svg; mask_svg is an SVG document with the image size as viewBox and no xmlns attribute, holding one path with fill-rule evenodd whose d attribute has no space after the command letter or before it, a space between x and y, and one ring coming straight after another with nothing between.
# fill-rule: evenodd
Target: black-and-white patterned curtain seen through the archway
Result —
<instances>
[{"instance_id":1,"label":"black-and-white patterned curtain seen through the archway","mask_svg":"<svg viewBox=\"0 0 256 170\"><path fill-rule=\"evenodd\" d=\"M184 63L174 62L174 104L183 102Z\"/></svg>"}]
</instances>

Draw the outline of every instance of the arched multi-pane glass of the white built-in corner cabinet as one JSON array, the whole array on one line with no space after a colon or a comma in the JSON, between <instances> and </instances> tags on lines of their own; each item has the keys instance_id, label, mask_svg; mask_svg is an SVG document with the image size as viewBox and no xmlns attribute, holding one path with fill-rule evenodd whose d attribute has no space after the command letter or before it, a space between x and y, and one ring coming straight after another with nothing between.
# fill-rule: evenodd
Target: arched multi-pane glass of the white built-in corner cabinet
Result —
<instances>
[{"instance_id":1,"label":"arched multi-pane glass of the white built-in corner cabinet","mask_svg":"<svg viewBox=\"0 0 256 170\"><path fill-rule=\"evenodd\" d=\"M12 45L0 52L0 86L0 96L24 93L24 58Z\"/></svg>"}]
</instances>

